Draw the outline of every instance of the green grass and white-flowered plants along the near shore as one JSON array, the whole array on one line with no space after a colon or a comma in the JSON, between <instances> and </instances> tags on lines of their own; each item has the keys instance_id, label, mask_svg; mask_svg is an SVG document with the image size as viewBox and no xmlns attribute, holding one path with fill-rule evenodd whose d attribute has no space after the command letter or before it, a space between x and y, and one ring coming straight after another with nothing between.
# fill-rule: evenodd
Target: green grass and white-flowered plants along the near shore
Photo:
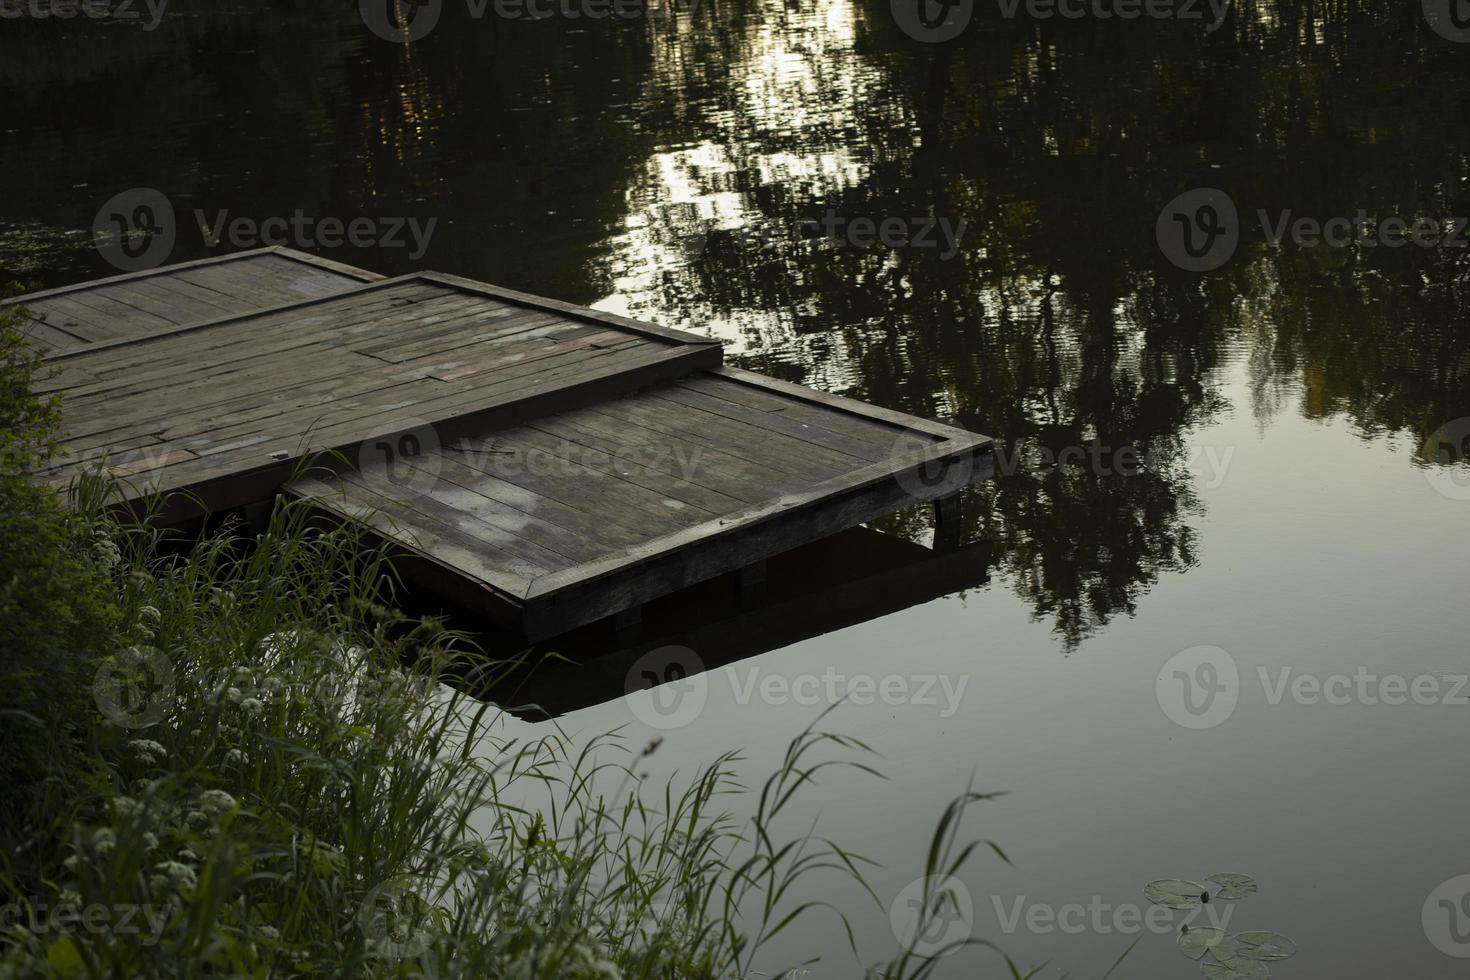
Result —
<instances>
[{"instance_id":1,"label":"green grass and white-flowered plants along the near shore","mask_svg":"<svg viewBox=\"0 0 1470 980\"><path fill-rule=\"evenodd\" d=\"M185 548L109 510L101 476L63 504L28 476L60 416L32 394L44 364L18 314L0 313L0 980L725 980L807 915L848 923L801 898L808 876L882 907L872 861L814 827L773 832L823 770L879 777L826 714L757 788L734 752L650 786L637 768L657 739L497 735L497 707L441 682L484 689L506 664L395 611L388 555L351 526L281 504L254 539L226 525ZM550 802L510 802L532 789ZM947 912L939 883L980 846L961 823L989 798L941 815L916 937ZM948 952L864 974L933 976Z\"/></svg>"}]
</instances>

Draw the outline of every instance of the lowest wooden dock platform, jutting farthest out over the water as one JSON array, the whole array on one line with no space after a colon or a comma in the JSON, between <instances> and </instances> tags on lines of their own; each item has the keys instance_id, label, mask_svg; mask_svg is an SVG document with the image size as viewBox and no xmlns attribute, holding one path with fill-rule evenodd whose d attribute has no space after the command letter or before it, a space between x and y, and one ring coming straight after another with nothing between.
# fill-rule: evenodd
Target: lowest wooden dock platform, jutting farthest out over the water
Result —
<instances>
[{"instance_id":1,"label":"lowest wooden dock platform, jutting farthest out over the water","mask_svg":"<svg viewBox=\"0 0 1470 980\"><path fill-rule=\"evenodd\" d=\"M425 442L287 489L453 570L531 639L954 494L989 445L731 367Z\"/></svg>"}]
</instances>

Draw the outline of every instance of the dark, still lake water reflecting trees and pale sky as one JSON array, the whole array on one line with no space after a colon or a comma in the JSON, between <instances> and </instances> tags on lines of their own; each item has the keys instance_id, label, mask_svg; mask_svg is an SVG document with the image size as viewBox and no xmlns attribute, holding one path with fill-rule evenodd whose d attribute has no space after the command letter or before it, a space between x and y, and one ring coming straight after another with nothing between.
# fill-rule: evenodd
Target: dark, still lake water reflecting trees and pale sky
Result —
<instances>
[{"instance_id":1,"label":"dark, still lake water reflecting trees and pale sky","mask_svg":"<svg viewBox=\"0 0 1470 980\"><path fill-rule=\"evenodd\" d=\"M562 727L662 733L657 774L726 748L759 774L829 701L798 680L897 677L907 695L826 723L889 780L835 776L804 811L883 862L883 905L973 780L1008 790L967 830L1013 867L967 865L964 918L1044 976L1100 976L1135 939L1116 976L1200 976L1177 920L1129 909L1216 871L1260 884L1232 932L1299 946L1277 977L1466 976L1457 4L1236 1L1214 24L978 0L928 28L851 0L445 0L403 44L356 4L175 1L154 24L4 0L0 269L112 272L98 209L153 188L175 262L284 217L332 259L629 311L991 433L1000 475L966 501L986 585L713 670L676 730L617 689ZM369 220L331 244L323 219ZM851 898L863 959L888 955L888 909ZM764 968L810 956L813 980L856 973L820 915ZM939 976L1000 965L967 951Z\"/></svg>"}]
</instances>

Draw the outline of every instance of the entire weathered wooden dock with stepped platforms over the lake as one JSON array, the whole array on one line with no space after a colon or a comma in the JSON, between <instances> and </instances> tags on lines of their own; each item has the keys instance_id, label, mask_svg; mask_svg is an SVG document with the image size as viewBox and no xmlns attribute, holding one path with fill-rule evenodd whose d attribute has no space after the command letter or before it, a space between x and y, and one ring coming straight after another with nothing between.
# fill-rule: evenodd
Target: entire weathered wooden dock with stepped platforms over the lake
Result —
<instances>
[{"instance_id":1,"label":"entire weathered wooden dock with stepped platforms over the lake","mask_svg":"<svg viewBox=\"0 0 1470 980\"><path fill-rule=\"evenodd\" d=\"M986 436L440 273L262 250L18 301L54 347L53 485L106 466L169 520L309 500L529 639L731 572L757 589L772 555L989 476Z\"/></svg>"}]
</instances>

